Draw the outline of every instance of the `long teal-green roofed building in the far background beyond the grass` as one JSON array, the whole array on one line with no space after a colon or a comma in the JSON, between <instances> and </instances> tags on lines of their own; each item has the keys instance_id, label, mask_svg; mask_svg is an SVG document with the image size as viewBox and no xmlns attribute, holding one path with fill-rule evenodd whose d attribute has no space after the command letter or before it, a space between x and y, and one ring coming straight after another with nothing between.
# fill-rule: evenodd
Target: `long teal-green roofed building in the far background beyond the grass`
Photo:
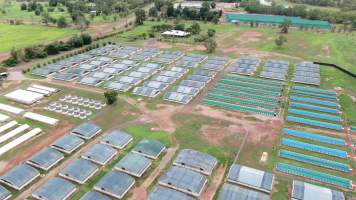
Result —
<instances>
[{"instance_id":1,"label":"long teal-green roofed building in the far background beyond the grass","mask_svg":"<svg viewBox=\"0 0 356 200\"><path fill-rule=\"evenodd\" d=\"M327 21L321 20L308 20L300 17L288 17L280 15L260 15L260 14L239 14L239 13L227 13L225 19L232 23L250 23L256 22L260 24L281 25L285 20L290 20L291 25L295 27L308 27L308 28L320 28L330 29L331 25Z\"/></svg>"}]
</instances>

